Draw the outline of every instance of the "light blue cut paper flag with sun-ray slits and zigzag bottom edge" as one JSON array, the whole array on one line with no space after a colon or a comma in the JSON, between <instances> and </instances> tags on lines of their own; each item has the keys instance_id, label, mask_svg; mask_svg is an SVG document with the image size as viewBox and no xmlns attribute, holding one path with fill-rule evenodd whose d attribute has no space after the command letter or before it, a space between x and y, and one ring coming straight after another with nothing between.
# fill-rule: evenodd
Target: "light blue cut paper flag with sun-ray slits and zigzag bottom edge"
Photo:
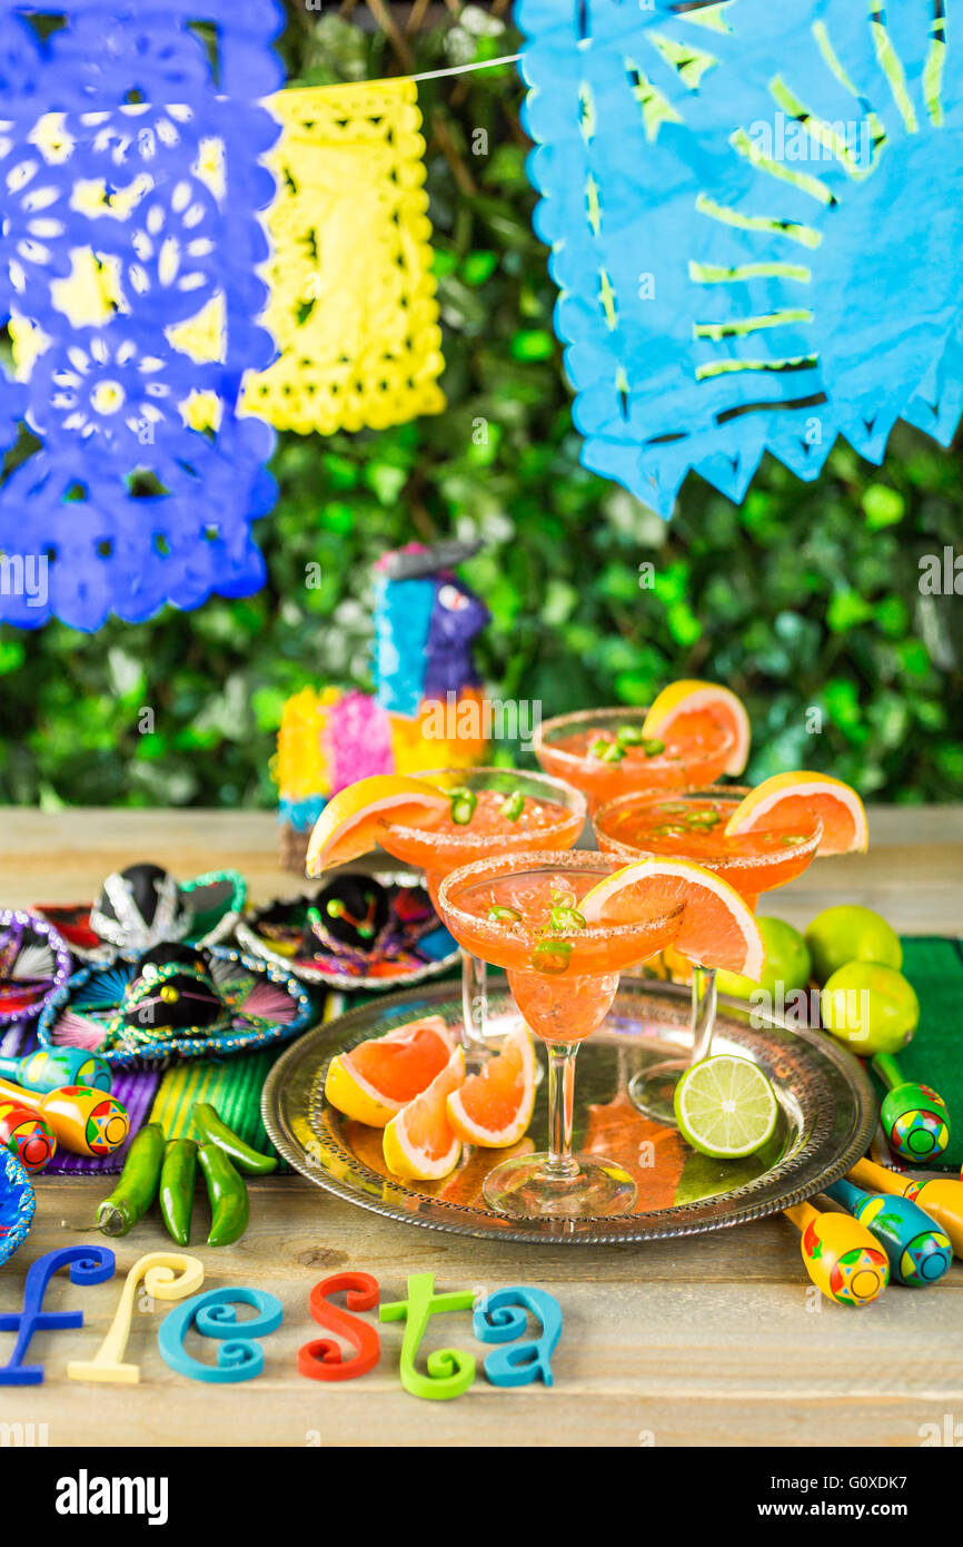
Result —
<instances>
[{"instance_id":1,"label":"light blue cut paper flag with sun-ray slits and zigzag bottom edge","mask_svg":"<svg viewBox=\"0 0 963 1547\"><path fill-rule=\"evenodd\" d=\"M518 0L587 467L663 517L961 408L960 0Z\"/></svg>"}]
</instances>

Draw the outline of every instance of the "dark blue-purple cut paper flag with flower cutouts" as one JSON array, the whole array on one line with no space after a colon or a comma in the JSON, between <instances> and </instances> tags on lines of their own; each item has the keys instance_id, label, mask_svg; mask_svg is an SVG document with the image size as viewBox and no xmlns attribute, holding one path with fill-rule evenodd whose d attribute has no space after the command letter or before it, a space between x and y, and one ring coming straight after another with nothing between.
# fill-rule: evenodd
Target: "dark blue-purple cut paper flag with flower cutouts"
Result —
<instances>
[{"instance_id":1,"label":"dark blue-purple cut paper flag with flower cutouts","mask_svg":"<svg viewBox=\"0 0 963 1547\"><path fill-rule=\"evenodd\" d=\"M281 26L274 0L0 0L0 619L94 630L263 583L274 435L238 396L274 356ZM178 334L215 317L201 362Z\"/></svg>"}]
</instances>

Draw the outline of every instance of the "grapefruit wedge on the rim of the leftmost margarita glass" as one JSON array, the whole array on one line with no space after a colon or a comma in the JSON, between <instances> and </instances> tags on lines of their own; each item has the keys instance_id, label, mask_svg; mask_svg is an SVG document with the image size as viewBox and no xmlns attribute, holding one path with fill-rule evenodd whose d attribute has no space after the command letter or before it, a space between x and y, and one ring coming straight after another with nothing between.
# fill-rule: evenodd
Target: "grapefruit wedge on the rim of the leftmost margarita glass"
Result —
<instances>
[{"instance_id":1,"label":"grapefruit wedge on the rim of the leftmost margarita glass","mask_svg":"<svg viewBox=\"0 0 963 1547\"><path fill-rule=\"evenodd\" d=\"M368 854L377 843L380 821L419 826L448 809L448 797L407 774L373 774L339 789L314 825L305 868L320 876L334 865Z\"/></svg>"}]
</instances>

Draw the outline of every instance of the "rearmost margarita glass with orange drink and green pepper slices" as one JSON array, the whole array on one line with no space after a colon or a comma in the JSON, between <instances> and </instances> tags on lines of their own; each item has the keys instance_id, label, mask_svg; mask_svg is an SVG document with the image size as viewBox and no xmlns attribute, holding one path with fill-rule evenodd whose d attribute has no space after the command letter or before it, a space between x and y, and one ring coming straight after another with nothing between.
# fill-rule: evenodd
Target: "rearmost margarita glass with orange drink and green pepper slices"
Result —
<instances>
[{"instance_id":1,"label":"rearmost margarita glass with orange drink and green pepper slices","mask_svg":"<svg viewBox=\"0 0 963 1547\"><path fill-rule=\"evenodd\" d=\"M580 789L589 811L629 791L705 789L725 774L736 746L728 726L688 716L662 738L643 738L648 709L594 709L546 719L535 756L546 774Z\"/></svg>"}]
</instances>

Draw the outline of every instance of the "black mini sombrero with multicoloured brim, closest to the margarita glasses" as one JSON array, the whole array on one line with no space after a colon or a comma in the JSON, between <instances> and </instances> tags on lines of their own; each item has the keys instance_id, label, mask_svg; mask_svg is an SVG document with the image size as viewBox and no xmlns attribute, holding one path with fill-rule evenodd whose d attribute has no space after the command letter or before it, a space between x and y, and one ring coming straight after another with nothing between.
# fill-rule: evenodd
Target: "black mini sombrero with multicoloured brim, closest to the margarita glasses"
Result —
<instances>
[{"instance_id":1,"label":"black mini sombrero with multicoloured brim, closest to the margarita glasses","mask_svg":"<svg viewBox=\"0 0 963 1547\"><path fill-rule=\"evenodd\" d=\"M249 913L236 934L254 956L340 989L397 989L458 961L424 882L410 876L342 873Z\"/></svg>"}]
</instances>

